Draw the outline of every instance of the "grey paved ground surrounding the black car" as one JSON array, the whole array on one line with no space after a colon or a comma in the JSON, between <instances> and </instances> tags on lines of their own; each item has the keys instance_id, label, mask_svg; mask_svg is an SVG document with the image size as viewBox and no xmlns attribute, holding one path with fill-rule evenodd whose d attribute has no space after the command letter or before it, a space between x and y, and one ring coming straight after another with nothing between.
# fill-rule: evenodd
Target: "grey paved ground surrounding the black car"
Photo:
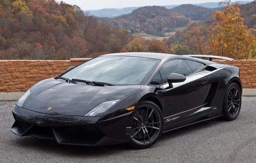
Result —
<instances>
[{"instance_id":1,"label":"grey paved ground surrounding the black car","mask_svg":"<svg viewBox=\"0 0 256 163\"><path fill-rule=\"evenodd\" d=\"M256 97L235 121L218 119L164 133L151 148L81 147L11 133L15 102L0 102L0 163L256 163Z\"/></svg>"}]
</instances>

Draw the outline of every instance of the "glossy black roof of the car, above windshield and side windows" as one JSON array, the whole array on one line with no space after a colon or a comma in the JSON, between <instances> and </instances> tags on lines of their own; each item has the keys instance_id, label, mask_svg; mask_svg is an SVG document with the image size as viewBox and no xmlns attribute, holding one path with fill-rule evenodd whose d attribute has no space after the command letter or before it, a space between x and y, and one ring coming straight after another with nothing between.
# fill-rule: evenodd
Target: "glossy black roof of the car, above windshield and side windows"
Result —
<instances>
[{"instance_id":1,"label":"glossy black roof of the car, above windshield and side windows","mask_svg":"<svg viewBox=\"0 0 256 163\"><path fill-rule=\"evenodd\" d=\"M113 53L113 54L105 54L101 56L127 56L127 57L146 57L158 60L169 60L174 58L181 58L181 59L189 59L195 60L198 62L203 62L207 65L213 64L214 62L203 60L199 58L189 57L186 55L176 55L176 54L165 54L165 53L150 53L150 52L128 52L128 53Z\"/></svg>"}]
</instances>

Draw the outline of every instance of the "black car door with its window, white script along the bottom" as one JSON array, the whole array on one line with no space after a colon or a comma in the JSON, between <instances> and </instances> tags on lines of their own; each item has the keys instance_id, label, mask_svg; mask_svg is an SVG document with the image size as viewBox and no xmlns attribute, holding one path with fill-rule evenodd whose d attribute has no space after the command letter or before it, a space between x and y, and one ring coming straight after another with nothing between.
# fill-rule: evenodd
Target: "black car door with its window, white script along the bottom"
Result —
<instances>
[{"instance_id":1,"label":"black car door with its window, white script along the bottom","mask_svg":"<svg viewBox=\"0 0 256 163\"><path fill-rule=\"evenodd\" d=\"M204 64L201 66L204 67ZM197 73L196 68L192 67L194 71L186 60L174 59L164 63L160 68L165 88L165 125L200 115L209 88L204 85L207 77ZM182 74L186 76L186 80L173 83L173 88L169 88L167 78L171 73Z\"/></svg>"}]
</instances>

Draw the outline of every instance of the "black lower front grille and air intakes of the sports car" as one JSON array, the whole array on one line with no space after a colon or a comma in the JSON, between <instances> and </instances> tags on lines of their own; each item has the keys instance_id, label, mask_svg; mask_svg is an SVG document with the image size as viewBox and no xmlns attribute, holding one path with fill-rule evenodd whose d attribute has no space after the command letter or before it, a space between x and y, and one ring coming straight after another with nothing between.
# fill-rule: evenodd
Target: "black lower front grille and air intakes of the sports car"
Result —
<instances>
[{"instance_id":1,"label":"black lower front grille and air intakes of the sports car","mask_svg":"<svg viewBox=\"0 0 256 163\"><path fill-rule=\"evenodd\" d=\"M58 143L94 145L104 138L104 133L95 125L79 127L42 127L13 114L15 123L12 131L19 136L34 136L40 139L56 139Z\"/></svg>"}]
</instances>

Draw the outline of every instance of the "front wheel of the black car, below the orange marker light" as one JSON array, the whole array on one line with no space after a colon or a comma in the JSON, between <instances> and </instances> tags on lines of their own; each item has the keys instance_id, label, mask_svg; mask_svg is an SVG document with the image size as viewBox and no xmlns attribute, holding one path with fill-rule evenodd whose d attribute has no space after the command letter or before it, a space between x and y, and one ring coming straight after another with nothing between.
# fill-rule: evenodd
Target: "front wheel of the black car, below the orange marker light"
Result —
<instances>
[{"instance_id":1,"label":"front wheel of the black car, below the orange marker light","mask_svg":"<svg viewBox=\"0 0 256 163\"><path fill-rule=\"evenodd\" d=\"M161 137L163 128L160 108L151 101L143 101L134 111L129 145L137 149L149 148Z\"/></svg>"}]
</instances>

